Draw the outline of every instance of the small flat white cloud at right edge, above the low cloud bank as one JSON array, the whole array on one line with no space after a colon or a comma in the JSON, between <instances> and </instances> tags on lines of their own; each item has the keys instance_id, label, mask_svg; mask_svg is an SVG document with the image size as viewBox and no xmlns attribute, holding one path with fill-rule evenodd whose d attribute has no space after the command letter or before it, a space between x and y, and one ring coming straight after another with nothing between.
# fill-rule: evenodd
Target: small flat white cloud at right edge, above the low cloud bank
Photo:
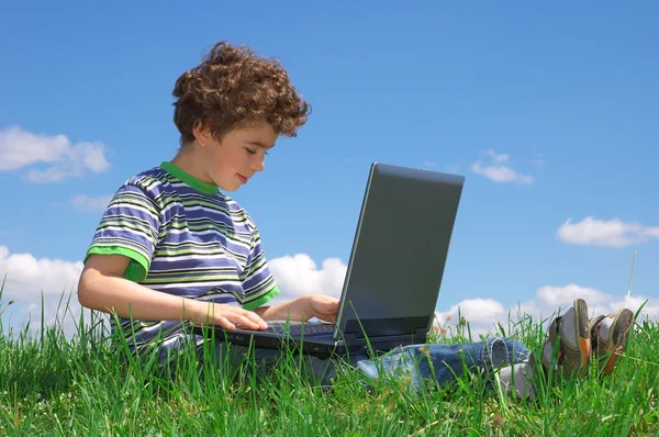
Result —
<instances>
[{"instance_id":1,"label":"small flat white cloud at right edge, above the low cloud bank","mask_svg":"<svg viewBox=\"0 0 659 437\"><path fill-rule=\"evenodd\" d=\"M659 238L659 226L644 226L636 222L625 223L619 218L596 220L588 216L579 223L568 218L557 232L565 243L606 247L625 247Z\"/></svg>"}]
</instances>

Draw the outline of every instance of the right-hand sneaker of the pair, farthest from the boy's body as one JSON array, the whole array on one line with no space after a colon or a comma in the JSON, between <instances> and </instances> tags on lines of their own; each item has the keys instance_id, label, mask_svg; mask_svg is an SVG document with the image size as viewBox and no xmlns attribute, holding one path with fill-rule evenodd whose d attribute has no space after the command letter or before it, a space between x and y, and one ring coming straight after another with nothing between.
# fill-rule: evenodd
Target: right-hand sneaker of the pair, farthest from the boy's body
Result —
<instances>
[{"instance_id":1,"label":"right-hand sneaker of the pair, farthest from the boy's body","mask_svg":"<svg viewBox=\"0 0 659 437\"><path fill-rule=\"evenodd\" d=\"M633 325L634 313L628 309L600 315L590 322L591 344L603 374L611 373L625 350Z\"/></svg>"}]
</instances>

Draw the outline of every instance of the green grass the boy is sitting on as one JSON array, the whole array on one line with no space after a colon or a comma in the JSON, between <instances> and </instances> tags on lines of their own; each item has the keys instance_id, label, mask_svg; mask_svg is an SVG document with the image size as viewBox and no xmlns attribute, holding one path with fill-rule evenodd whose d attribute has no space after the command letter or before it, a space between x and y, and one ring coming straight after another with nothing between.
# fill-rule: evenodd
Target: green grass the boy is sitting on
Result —
<instances>
[{"instance_id":1,"label":"green grass the boy is sitting on","mask_svg":"<svg viewBox=\"0 0 659 437\"><path fill-rule=\"evenodd\" d=\"M2 333L1 302L0 288L0 435L659 435L659 325L647 320L637 321L612 374L594 374L593 363L588 379L547 385L538 370L537 399L527 401L471 372L413 392L404 378L370 381L369 390L362 374L339 367L322 388L292 354L256 378L248 359L217 366L209 355L200 367L190 349L168 378L148 357L115 351L98 324L88 327L98 320L78 321L68 339L62 323L36 336ZM460 320L435 341L472 339L468 326ZM545 329L522 317L500 330L538 350Z\"/></svg>"}]
</instances>

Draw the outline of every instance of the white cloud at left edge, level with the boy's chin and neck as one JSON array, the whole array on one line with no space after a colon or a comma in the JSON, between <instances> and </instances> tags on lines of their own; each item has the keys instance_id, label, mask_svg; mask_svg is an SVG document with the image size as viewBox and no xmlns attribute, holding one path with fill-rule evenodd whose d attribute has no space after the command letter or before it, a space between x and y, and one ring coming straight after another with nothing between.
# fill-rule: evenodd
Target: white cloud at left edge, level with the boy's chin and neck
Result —
<instances>
[{"instance_id":1,"label":"white cloud at left edge, level with the boy's chin and neck","mask_svg":"<svg viewBox=\"0 0 659 437\"><path fill-rule=\"evenodd\" d=\"M71 144L65 135L38 135L19 126L0 131L0 171L47 165L27 171L26 178L33 182L59 182L88 171L105 171L110 167L107 152L102 143Z\"/></svg>"}]
</instances>

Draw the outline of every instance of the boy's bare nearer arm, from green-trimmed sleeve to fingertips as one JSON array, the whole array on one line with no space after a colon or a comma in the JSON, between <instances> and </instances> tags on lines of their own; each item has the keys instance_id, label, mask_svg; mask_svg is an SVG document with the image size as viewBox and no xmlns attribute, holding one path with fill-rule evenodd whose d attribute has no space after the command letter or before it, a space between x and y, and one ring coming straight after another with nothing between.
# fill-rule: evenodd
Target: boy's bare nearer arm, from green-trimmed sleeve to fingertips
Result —
<instances>
[{"instance_id":1,"label":"boy's bare nearer arm, from green-trimmed sleeve to fingertips","mask_svg":"<svg viewBox=\"0 0 659 437\"><path fill-rule=\"evenodd\" d=\"M78 301L88 309L125 318L191 321L234 329L241 324L267 328L254 312L235 305L214 304L161 293L123 278L130 258L121 255L90 255L78 283Z\"/></svg>"}]
</instances>

